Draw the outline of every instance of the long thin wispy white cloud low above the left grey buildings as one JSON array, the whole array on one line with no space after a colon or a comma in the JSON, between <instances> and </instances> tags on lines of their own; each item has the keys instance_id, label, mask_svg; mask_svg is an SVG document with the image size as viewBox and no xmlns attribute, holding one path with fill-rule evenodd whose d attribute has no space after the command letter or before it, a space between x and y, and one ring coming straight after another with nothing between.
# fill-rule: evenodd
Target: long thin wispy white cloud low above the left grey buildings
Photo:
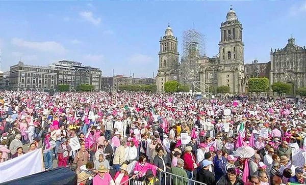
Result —
<instances>
[{"instance_id":1,"label":"long thin wispy white cloud low above the left grey buildings","mask_svg":"<svg viewBox=\"0 0 306 185\"><path fill-rule=\"evenodd\" d=\"M19 38L13 38L11 43L19 47L34 49L42 52L57 54L64 54L66 52L66 49L60 43L55 41L31 42Z\"/></svg>"}]
</instances>

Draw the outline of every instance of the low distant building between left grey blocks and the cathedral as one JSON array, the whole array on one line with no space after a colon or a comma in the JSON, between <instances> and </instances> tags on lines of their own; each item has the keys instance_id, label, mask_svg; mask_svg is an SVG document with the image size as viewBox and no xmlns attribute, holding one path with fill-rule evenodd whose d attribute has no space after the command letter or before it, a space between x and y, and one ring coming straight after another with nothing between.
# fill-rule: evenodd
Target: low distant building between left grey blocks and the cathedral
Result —
<instances>
[{"instance_id":1,"label":"low distant building between left grey blocks and the cathedral","mask_svg":"<svg viewBox=\"0 0 306 185\"><path fill-rule=\"evenodd\" d=\"M154 78L133 78L123 75L102 77L101 90L117 91L119 86L122 85L150 85L155 84Z\"/></svg>"}]
</instances>

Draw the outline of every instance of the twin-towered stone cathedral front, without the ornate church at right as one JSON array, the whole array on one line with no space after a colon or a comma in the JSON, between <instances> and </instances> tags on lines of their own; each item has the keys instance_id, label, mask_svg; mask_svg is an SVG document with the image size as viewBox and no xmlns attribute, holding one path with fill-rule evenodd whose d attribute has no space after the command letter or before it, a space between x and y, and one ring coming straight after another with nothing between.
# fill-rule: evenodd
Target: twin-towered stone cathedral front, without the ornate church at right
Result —
<instances>
[{"instance_id":1,"label":"twin-towered stone cathedral front, without the ornate church at right","mask_svg":"<svg viewBox=\"0 0 306 185\"><path fill-rule=\"evenodd\" d=\"M226 21L221 23L221 35L219 42L219 53L215 57L198 56L195 47L191 47L192 54L196 57L193 63L194 69L190 73L196 73L194 80L205 83L209 86L226 85L230 87L231 93L244 93L245 89L245 71L244 71L244 44L242 41L242 24L238 21L233 8L226 15ZM166 49L165 44L166 43ZM175 46L175 49L168 48L168 43ZM191 45L194 43L190 43ZM159 52L159 70L157 74L157 87L159 91L163 91L163 84L167 81L185 78L186 76L178 76L179 71L184 71L184 63L168 63L168 58L173 61L179 59L179 53L175 52L177 47L177 39L174 39L172 29L168 27L165 36L160 41ZM194 48L194 49L192 49ZM170 49L170 51L168 50ZM173 59L174 58L174 59ZM197 70L199 69L199 70ZM186 75L187 73L185 73ZM187 84L191 87L192 84Z\"/></svg>"}]
</instances>

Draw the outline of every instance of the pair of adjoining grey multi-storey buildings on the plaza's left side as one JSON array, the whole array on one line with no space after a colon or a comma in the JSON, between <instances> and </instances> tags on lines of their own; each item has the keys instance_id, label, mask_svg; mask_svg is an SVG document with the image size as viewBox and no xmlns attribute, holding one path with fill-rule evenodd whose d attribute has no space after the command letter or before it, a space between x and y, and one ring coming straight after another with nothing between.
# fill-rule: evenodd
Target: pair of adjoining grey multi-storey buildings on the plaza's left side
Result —
<instances>
[{"instance_id":1,"label":"pair of adjoining grey multi-storey buildings on the plaza's left side","mask_svg":"<svg viewBox=\"0 0 306 185\"><path fill-rule=\"evenodd\" d=\"M56 89L58 85L69 85L76 89L78 85L93 85L95 90L101 87L101 70L83 66L75 61L62 60L49 66L24 65L21 61L10 67L10 87L14 89Z\"/></svg>"}]
</instances>

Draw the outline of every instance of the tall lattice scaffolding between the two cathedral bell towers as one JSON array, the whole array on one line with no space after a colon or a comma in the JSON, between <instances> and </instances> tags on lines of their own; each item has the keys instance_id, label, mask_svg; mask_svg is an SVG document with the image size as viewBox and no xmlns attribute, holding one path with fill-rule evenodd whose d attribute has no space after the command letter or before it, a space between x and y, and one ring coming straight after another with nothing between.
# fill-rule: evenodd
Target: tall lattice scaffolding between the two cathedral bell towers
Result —
<instances>
[{"instance_id":1,"label":"tall lattice scaffolding between the two cathedral bell towers","mask_svg":"<svg viewBox=\"0 0 306 185\"><path fill-rule=\"evenodd\" d=\"M195 29L183 32L183 48L180 66L180 83L193 87L194 81L200 81L200 56L205 55L205 37Z\"/></svg>"}]
</instances>

